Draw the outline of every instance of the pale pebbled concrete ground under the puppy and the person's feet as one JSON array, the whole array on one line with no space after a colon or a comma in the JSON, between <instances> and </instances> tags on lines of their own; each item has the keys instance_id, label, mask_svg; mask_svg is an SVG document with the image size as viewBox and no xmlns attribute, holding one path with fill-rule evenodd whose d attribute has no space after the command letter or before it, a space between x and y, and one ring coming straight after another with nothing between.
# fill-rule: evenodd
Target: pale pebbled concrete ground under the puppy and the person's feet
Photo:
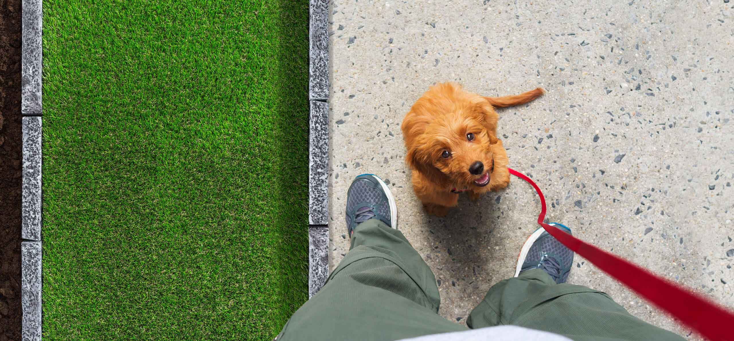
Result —
<instances>
[{"instance_id":1,"label":"pale pebbled concrete ground under the puppy and the person's feet","mask_svg":"<svg viewBox=\"0 0 734 341\"><path fill-rule=\"evenodd\" d=\"M410 188L400 123L435 82L487 95L544 87L500 111L512 168L548 218L734 307L734 3L711 1L333 1L330 266L349 249L346 190L390 182L399 228L440 281L440 314L465 323L509 277L539 201L518 179L427 217ZM697 340L577 257L569 282Z\"/></svg>"}]
</instances>

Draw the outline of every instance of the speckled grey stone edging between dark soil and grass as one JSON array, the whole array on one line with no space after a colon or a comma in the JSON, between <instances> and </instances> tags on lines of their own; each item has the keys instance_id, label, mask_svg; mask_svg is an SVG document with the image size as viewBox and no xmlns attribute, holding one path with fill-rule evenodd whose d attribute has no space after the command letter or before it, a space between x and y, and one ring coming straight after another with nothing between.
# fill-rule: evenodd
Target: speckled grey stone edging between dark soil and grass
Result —
<instances>
[{"instance_id":1,"label":"speckled grey stone edging between dark soil and grass","mask_svg":"<svg viewBox=\"0 0 734 341\"><path fill-rule=\"evenodd\" d=\"M41 340L41 67L43 0L23 0L21 114L21 340Z\"/></svg>"}]
</instances>

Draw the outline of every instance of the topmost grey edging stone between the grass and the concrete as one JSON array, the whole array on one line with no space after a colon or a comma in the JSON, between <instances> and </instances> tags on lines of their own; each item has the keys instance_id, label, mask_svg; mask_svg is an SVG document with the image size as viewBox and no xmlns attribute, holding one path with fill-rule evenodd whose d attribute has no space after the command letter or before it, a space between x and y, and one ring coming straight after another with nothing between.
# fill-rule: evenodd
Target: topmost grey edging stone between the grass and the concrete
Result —
<instances>
[{"instance_id":1,"label":"topmost grey edging stone between the grass and the concrete","mask_svg":"<svg viewBox=\"0 0 734 341\"><path fill-rule=\"evenodd\" d=\"M329 99L329 1L309 2L308 98L325 101Z\"/></svg>"}]
</instances>

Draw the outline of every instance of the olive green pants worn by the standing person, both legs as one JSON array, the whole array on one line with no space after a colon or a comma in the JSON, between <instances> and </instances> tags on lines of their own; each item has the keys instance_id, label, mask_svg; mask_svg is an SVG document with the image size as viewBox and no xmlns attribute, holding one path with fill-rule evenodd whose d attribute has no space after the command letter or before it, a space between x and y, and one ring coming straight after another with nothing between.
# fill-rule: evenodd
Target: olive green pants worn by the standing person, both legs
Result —
<instances>
[{"instance_id":1,"label":"olive green pants worn by the standing person, both legs","mask_svg":"<svg viewBox=\"0 0 734 341\"><path fill-rule=\"evenodd\" d=\"M517 247L520 247L518 245ZM403 234L368 220L324 288L294 313L277 340L399 340L466 330L437 314L435 277ZM540 269L493 285L469 328L499 325L573 340L683 340L630 315L606 293L556 284Z\"/></svg>"}]
</instances>

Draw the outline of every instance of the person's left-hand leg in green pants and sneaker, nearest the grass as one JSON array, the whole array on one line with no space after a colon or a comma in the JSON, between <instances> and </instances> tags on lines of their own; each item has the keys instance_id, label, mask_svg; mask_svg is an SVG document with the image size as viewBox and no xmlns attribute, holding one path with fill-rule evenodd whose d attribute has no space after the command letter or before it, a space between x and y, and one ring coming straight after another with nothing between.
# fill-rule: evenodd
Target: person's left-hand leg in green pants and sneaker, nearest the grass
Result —
<instances>
[{"instance_id":1,"label":"person's left-hand leg in green pants and sneaker, nearest the grass","mask_svg":"<svg viewBox=\"0 0 734 341\"><path fill-rule=\"evenodd\" d=\"M277 340L398 340L466 329L437 314L435 277L395 228L396 208L383 184L371 175L352 183L349 253Z\"/></svg>"}]
</instances>

